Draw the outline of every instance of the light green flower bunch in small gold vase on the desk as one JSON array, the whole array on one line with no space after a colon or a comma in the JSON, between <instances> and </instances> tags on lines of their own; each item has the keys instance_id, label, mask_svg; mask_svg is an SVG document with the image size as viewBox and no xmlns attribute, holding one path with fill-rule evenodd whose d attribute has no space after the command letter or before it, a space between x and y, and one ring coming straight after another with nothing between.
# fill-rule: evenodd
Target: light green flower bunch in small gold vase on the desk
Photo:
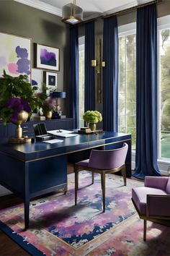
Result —
<instances>
[{"instance_id":1,"label":"light green flower bunch in small gold vase on the desk","mask_svg":"<svg viewBox=\"0 0 170 256\"><path fill-rule=\"evenodd\" d=\"M98 121L102 121L102 114L99 111L86 111L83 116L84 121L89 124L91 131L96 130Z\"/></svg>"}]
</instances>

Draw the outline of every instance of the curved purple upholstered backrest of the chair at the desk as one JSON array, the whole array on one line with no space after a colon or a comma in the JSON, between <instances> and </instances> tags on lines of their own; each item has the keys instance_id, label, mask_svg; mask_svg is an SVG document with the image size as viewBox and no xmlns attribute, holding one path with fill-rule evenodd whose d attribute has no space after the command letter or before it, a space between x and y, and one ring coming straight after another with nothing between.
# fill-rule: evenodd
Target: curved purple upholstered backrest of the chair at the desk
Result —
<instances>
[{"instance_id":1,"label":"curved purple upholstered backrest of the chair at the desk","mask_svg":"<svg viewBox=\"0 0 170 256\"><path fill-rule=\"evenodd\" d=\"M118 168L125 163L127 152L127 143L123 143L122 148L113 150L91 150L89 167L102 170Z\"/></svg>"}]
</instances>

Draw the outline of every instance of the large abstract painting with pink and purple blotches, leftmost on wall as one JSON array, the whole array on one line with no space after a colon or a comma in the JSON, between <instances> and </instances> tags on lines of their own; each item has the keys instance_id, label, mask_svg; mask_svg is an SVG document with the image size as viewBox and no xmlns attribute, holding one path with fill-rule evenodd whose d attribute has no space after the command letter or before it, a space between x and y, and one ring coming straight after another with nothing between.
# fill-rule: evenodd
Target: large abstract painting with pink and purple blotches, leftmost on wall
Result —
<instances>
[{"instance_id":1,"label":"large abstract painting with pink and purple blotches, leftmost on wall","mask_svg":"<svg viewBox=\"0 0 170 256\"><path fill-rule=\"evenodd\" d=\"M18 77L27 74L31 81L31 39L0 33L0 77L6 74Z\"/></svg>"}]
</instances>

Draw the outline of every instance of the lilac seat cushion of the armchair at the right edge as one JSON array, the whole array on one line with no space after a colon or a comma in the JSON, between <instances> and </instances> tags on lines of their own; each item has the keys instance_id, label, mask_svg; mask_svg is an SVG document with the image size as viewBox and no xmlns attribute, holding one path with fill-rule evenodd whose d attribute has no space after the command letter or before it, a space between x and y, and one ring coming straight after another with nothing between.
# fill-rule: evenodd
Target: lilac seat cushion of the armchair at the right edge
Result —
<instances>
[{"instance_id":1,"label":"lilac seat cushion of the armchair at the right edge","mask_svg":"<svg viewBox=\"0 0 170 256\"><path fill-rule=\"evenodd\" d=\"M163 189L152 187L136 187L132 189L132 198L140 215L146 215L147 195L167 195Z\"/></svg>"}]
</instances>

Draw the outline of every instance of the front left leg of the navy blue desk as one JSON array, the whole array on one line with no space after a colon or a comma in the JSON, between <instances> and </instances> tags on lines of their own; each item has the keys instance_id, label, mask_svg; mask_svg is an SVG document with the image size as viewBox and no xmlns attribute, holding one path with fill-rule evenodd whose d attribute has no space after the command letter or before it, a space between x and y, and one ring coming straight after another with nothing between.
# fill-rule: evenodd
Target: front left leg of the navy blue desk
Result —
<instances>
[{"instance_id":1,"label":"front left leg of the navy blue desk","mask_svg":"<svg viewBox=\"0 0 170 256\"><path fill-rule=\"evenodd\" d=\"M29 163L25 163L24 174L24 229L29 229L30 191L29 191Z\"/></svg>"}]
</instances>

